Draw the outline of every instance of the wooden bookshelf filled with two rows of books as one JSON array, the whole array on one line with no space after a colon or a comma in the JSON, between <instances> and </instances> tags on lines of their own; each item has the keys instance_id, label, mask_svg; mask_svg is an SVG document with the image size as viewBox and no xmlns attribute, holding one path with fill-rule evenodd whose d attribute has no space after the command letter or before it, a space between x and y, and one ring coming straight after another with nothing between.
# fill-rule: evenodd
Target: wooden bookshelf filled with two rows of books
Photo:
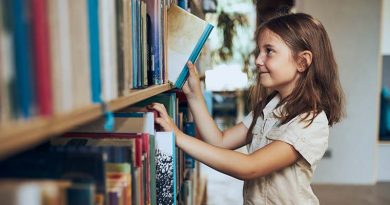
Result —
<instances>
[{"instance_id":1,"label":"wooden bookshelf filled with two rows of books","mask_svg":"<svg viewBox=\"0 0 390 205\"><path fill-rule=\"evenodd\" d=\"M168 80L168 9L178 1L0 2L0 44L5 42L8 46L0 49L0 62L6 59L0 67L0 201L9 204L13 199L26 198L26 194L19 195L17 190L9 187L29 183L35 184L38 192L42 191L36 195L37 200L45 201L47 196L43 192L48 185L41 177L49 179L50 186L61 189L56 200L75 199L83 205L157 204L156 201L161 204L159 200L167 199L172 203L163 201L162 204L181 204L195 197L202 201L205 178L199 182L191 178L198 175L199 170L194 170L195 165L186 165L188 159L184 152L175 148L174 134L154 129L155 113L126 110L139 102L150 104L148 100L160 102L159 99L168 99L166 102L170 106L165 101L163 103L166 107L174 107L170 116L177 118L177 125L184 130L185 123L193 124L184 121L189 113L187 105L185 101L179 101L170 83L172 80ZM192 0L191 5L196 15L204 18L200 1ZM33 18L24 19L22 12L6 12L8 18L3 19L2 12L9 8L34 12ZM24 29L32 25L34 32L21 35L23 32L8 27L11 24L6 20L19 22L19 27ZM12 37L15 41L11 41ZM18 43L30 37L34 37L31 53L21 52L23 48ZM20 58L11 57L13 49L23 54L25 64L18 63ZM41 52L37 54L37 51ZM30 58L31 62L27 61ZM10 71L15 72L15 76L8 75ZM29 82L24 83L27 78ZM77 140L82 133L75 130L80 127L92 125L103 129L97 121L104 122L106 111L115 112L114 131L87 131L104 135L104 140L99 143L109 141L111 144L55 144L65 139L65 135L73 134L76 138L71 139L72 142ZM126 116L121 117L120 114L124 113ZM115 130L121 126L119 118L126 118L129 122L126 125L128 131L120 133ZM112 137L115 134L118 135ZM92 138L88 139L90 141ZM160 145L168 143L173 148L163 152L166 146ZM68 157L72 160L68 161ZM23 166L16 168L21 170L20 173L15 171L14 165ZM28 169L24 169L25 166ZM164 171L161 171L163 166ZM81 175L72 175L74 173L81 174L82 180L78 178ZM58 184L61 180L67 181L67 187L61 188ZM195 190L195 186L203 187L199 196L182 191ZM166 191L161 191L161 187ZM67 195L66 199L60 196L69 194L65 190L73 188L85 191L78 194L88 198L88 203L73 195ZM8 194L4 194L6 192ZM35 202L25 204L31 203Z\"/></svg>"}]
</instances>

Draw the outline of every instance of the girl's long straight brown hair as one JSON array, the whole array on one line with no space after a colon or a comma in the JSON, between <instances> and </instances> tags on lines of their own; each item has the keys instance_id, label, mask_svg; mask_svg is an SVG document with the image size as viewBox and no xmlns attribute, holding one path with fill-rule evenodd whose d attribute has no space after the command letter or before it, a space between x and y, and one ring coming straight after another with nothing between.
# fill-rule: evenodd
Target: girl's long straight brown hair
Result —
<instances>
[{"instance_id":1,"label":"girl's long straight brown hair","mask_svg":"<svg viewBox=\"0 0 390 205\"><path fill-rule=\"evenodd\" d=\"M257 28L256 42L265 29L269 29L283 39L296 62L303 60L299 59L300 52L307 50L312 53L311 64L305 64L306 70L301 73L291 94L277 105L284 105L282 116L277 116L281 124L286 124L296 116L304 114L302 120L309 121L309 126L322 111L326 113L329 126L339 122L344 116L344 94L332 46L321 22L303 13L275 17ZM258 75L257 84L250 92L254 120L247 134L248 143L252 140L256 119L259 116L264 117L262 112L264 107L276 95L276 91L261 86Z\"/></svg>"}]
</instances>

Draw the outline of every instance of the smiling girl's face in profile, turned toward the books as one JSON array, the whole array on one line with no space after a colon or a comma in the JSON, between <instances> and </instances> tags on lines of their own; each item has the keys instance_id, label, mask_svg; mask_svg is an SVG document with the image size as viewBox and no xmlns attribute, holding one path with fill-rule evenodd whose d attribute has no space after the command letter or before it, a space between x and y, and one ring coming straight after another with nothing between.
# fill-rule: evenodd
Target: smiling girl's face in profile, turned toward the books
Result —
<instances>
[{"instance_id":1,"label":"smiling girl's face in profile, turned toward the books","mask_svg":"<svg viewBox=\"0 0 390 205\"><path fill-rule=\"evenodd\" d=\"M255 63L261 85L278 91L282 98L288 96L299 78L290 48L269 29L262 31L257 40L259 55Z\"/></svg>"}]
</instances>

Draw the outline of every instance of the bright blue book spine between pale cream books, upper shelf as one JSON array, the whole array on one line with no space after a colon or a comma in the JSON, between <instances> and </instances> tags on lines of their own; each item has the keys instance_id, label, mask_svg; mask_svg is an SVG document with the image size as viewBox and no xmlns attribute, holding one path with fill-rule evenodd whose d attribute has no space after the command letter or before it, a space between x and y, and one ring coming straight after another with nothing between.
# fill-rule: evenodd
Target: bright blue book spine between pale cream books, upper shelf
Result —
<instances>
[{"instance_id":1,"label":"bright blue book spine between pale cream books, upper shelf","mask_svg":"<svg viewBox=\"0 0 390 205\"><path fill-rule=\"evenodd\" d=\"M89 51L91 65L91 91L92 102L101 102L100 80L100 45L99 45L99 1L88 0L88 23L89 23Z\"/></svg>"}]
</instances>

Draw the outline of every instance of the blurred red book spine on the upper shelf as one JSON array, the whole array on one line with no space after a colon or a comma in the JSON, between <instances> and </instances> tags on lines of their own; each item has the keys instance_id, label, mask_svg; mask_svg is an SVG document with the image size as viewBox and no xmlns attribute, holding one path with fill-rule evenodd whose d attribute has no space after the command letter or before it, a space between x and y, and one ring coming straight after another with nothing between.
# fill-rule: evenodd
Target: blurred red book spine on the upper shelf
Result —
<instances>
[{"instance_id":1,"label":"blurred red book spine on the upper shelf","mask_svg":"<svg viewBox=\"0 0 390 205\"><path fill-rule=\"evenodd\" d=\"M32 43L38 113L53 114L49 29L46 0L32 0Z\"/></svg>"}]
</instances>

